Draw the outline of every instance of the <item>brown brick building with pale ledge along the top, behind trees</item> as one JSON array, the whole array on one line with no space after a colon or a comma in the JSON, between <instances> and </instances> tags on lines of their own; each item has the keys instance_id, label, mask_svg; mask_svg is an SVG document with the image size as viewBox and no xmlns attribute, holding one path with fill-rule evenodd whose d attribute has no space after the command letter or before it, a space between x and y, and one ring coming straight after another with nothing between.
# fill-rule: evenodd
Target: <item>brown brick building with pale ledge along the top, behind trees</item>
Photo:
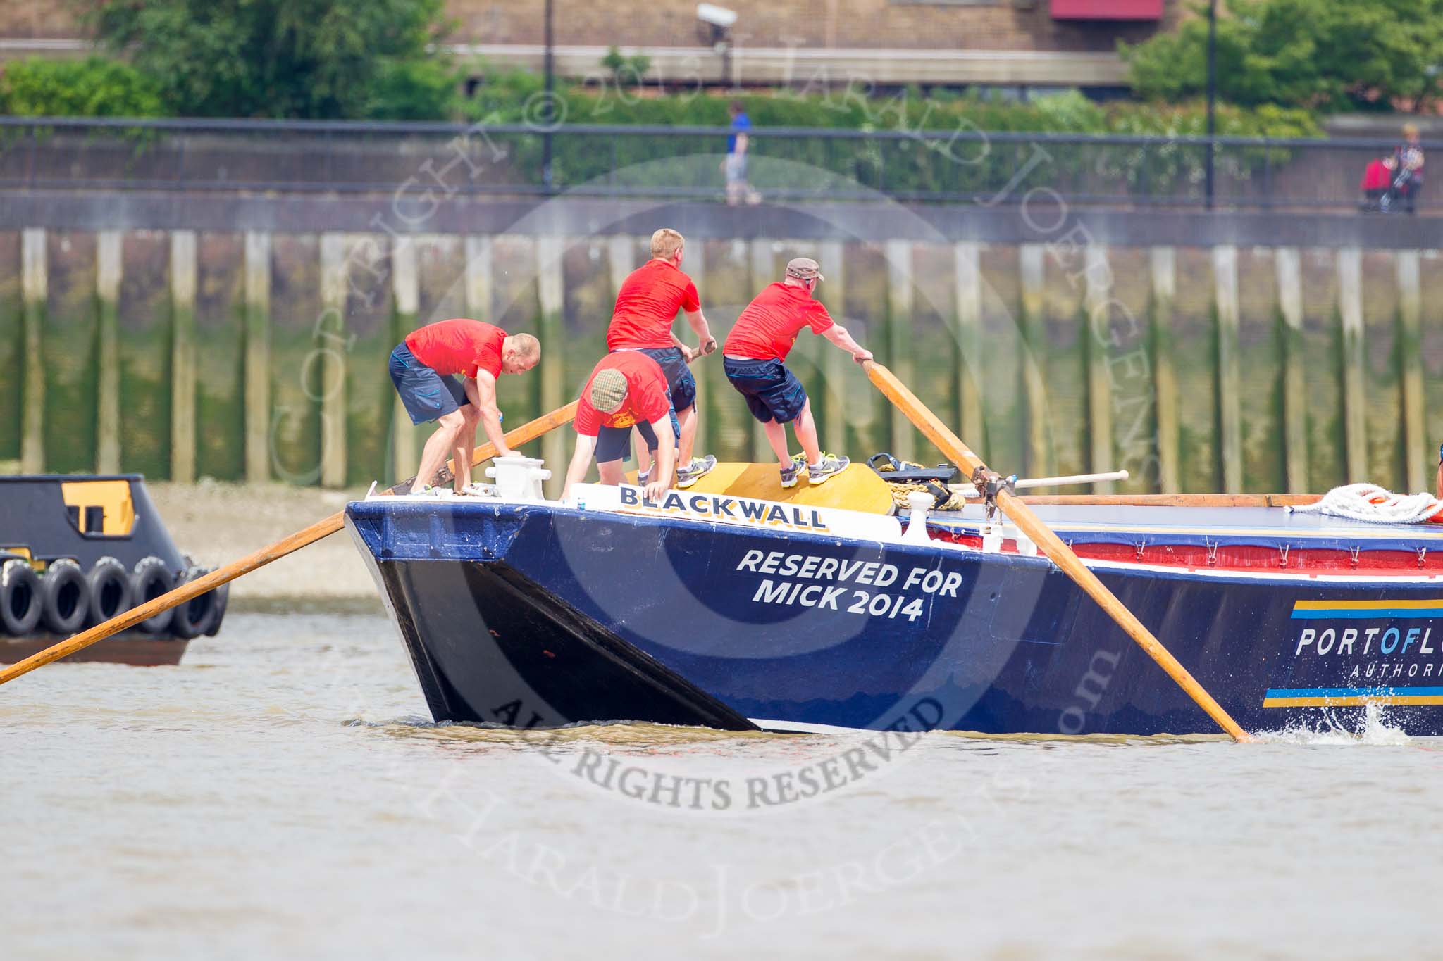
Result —
<instances>
[{"instance_id":1,"label":"brown brick building with pale ledge along the top, behind trees","mask_svg":"<svg viewBox=\"0 0 1443 961\"><path fill-rule=\"evenodd\" d=\"M727 0L729 48L711 46L691 0L553 0L556 65L584 76L608 48L651 58L661 82L847 82L1115 88L1117 42L1172 29L1182 0ZM541 0L449 0L459 52L540 66ZM88 43L63 4L9 0L0 56Z\"/></svg>"}]
</instances>

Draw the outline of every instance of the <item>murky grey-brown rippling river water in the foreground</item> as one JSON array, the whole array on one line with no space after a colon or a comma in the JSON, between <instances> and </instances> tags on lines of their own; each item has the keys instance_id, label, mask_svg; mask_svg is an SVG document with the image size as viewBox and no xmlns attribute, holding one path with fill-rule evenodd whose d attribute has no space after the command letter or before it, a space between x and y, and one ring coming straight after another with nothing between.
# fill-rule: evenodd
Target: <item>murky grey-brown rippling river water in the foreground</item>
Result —
<instances>
[{"instance_id":1,"label":"murky grey-brown rippling river water in the foreground","mask_svg":"<svg viewBox=\"0 0 1443 961\"><path fill-rule=\"evenodd\" d=\"M1443 745L1387 719L887 746L434 726L381 617L238 612L0 692L0 957L1439 952Z\"/></svg>"}]
</instances>

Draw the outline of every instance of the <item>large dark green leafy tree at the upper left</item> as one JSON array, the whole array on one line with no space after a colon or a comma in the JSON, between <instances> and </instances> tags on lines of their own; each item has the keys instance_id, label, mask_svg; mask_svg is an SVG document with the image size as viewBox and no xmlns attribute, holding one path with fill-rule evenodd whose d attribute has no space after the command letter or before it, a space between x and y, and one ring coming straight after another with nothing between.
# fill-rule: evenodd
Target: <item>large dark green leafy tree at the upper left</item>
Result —
<instances>
[{"instance_id":1,"label":"large dark green leafy tree at the upper left","mask_svg":"<svg viewBox=\"0 0 1443 961\"><path fill-rule=\"evenodd\" d=\"M101 42L189 117L444 118L444 0L81 0Z\"/></svg>"}]
</instances>

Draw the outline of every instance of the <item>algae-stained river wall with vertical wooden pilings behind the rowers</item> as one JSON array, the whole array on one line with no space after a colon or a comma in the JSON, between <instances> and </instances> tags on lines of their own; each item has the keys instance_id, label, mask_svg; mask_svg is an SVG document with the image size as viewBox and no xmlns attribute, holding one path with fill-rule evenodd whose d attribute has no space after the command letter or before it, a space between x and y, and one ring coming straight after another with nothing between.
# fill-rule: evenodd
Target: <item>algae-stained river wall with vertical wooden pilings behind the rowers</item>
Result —
<instances>
[{"instance_id":1,"label":"algae-stained river wall with vertical wooden pilings behind the rowers","mask_svg":"<svg viewBox=\"0 0 1443 961\"><path fill-rule=\"evenodd\" d=\"M446 317L541 337L502 377L512 426L570 399L605 350L645 238L0 232L0 470L358 487L414 473L429 435L387 359ZM1127 468L1118 490L1431 484L1443 439L1443 255L696 241L719 339L789 256L818 297L993 467ZM677 331L693 340L678 318ZM932 461L841 352L795 369L824 447ZM698 451L769 460L722 376L694 366ZM553 470L570 439L532 445Z\"/></svg>"}]
</instances>

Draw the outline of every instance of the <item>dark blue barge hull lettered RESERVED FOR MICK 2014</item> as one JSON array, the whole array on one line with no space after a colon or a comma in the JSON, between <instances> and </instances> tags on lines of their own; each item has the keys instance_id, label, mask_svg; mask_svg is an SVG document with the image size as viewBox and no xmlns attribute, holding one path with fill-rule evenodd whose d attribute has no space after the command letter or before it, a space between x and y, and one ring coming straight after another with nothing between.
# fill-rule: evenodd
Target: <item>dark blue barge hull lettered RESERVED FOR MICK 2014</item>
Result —
<instances>
[{"instance_id":1,"label":"dark blue barge hull lettered RESERVED FOR MICK 2014","mask_svg":"<svg viewBox=\"0 0 1443 961\"><path fill-rule=\"evenodd\" d=\"M551 503L374 499L346 523L437 720L1216 733L1042 558ZM1443 733L1431 578L1092 566L1250 730L1378 703Z\"/></svg>"}]
</instances>

